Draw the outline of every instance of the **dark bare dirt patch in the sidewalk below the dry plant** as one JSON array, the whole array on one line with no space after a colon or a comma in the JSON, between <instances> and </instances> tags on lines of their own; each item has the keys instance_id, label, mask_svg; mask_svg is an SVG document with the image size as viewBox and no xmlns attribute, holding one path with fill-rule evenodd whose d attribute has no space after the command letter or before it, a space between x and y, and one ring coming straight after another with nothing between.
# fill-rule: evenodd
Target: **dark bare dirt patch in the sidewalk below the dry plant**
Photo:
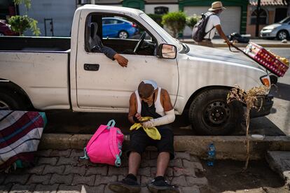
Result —
<instances>
[{"instance_id":1,"label":"dark bare dirt patch in the sidewalk below the dry plant","mask_svg":"<svg viewBox=\"0 0 290 193\"><path fill-rule=\"evenodd\" d=\"M233 160L216 160L214 166L207 166L206 161L202 161L205 169L205 177L209 181L207 190L201 192L226 192L263 188L272 189L284 186L277 173L269 168L267 162L250 161L249 167L242 172L244 162ZM248 190L248 191L247 191Z\"/></svg>"}]
</instances>

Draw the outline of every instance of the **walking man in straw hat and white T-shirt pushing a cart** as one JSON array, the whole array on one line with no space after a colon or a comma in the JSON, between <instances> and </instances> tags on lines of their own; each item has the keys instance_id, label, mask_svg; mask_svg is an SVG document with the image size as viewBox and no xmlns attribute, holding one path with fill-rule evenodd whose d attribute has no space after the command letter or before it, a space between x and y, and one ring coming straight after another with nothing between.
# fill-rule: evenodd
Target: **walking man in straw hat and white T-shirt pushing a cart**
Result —
<instances>
[{"instance_id":1,"label":"walking man in straw hat and white T-shirt pushing a cart","mask_svg":"<svg viewBox=\"0 0 290 193\"><path fill-rule=\"evenodd\" d=\"M214 38L216 31L218 31L219 36L221 36L221 38L223 38L228 45L231 45L230 41L223 33L223 29L221 29L221 20L219 19L219 15L225 9L226 8L223 7L221 1L215 1L214 3L212 3L212 7L209 8L209 12L205 13L205 15L209 15L207 26L205 27L205 32L207 34L205 35L204 40L198 42L198 45L214 47L214 45L212 44L212 38Z\"/></svg>"}]
</instances>

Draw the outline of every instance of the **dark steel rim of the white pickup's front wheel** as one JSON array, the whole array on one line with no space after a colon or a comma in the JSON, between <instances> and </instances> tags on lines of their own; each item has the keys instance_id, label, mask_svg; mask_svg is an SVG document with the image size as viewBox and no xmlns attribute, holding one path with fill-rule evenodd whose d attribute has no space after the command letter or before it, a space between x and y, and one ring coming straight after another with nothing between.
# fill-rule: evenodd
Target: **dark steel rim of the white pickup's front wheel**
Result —
<instances>
[{"instance_id":1,"label":"dark steel rim of the white pickup's front wheel","mask_svg":"<svg viewBox=\"0 0 290 193\"><path fill-rule=\"evenodd\" d=\"M228 121L230 108L225 101L214 101L207 105L202 117L210 127L220 127Z\"/></svg>"}]
</instances>

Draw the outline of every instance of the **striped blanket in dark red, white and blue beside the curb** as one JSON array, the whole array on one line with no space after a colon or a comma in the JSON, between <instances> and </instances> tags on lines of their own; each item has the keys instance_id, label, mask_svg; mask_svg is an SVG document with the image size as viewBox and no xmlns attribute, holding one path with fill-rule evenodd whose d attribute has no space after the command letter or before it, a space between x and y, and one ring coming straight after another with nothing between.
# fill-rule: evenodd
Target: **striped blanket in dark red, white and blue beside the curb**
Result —
<instances>
[{"instance_id":1,"label":"striped blanket in dark red, white and blue beside the curb","mask_svg":"<svg viewBox=\"0 0 290 193\"><path fill-rule=\"evenodd\" d=\"M45 125L45 113L0 110L0 171L33 163Z\"/></svg>"}]
</instances>

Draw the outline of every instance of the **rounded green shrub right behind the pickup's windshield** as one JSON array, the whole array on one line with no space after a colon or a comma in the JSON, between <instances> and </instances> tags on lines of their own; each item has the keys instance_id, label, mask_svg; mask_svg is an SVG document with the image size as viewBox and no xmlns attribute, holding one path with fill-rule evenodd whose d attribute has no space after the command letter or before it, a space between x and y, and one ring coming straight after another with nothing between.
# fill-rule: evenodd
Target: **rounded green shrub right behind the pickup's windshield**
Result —
<instances>
[{"instance_id":1,"label":"rounded green shrub right behind the pickup's windshield","mask_svg":"<svg viewBox=\"0 0 290 193\"><path fill-rule=\"evenodd\" d=\"M181 11L167 13L162 17L162 24L173 32L174 38L177 38L177 35L181 33L186 26L186 15Z\"/></svg>"}]
</instances>

